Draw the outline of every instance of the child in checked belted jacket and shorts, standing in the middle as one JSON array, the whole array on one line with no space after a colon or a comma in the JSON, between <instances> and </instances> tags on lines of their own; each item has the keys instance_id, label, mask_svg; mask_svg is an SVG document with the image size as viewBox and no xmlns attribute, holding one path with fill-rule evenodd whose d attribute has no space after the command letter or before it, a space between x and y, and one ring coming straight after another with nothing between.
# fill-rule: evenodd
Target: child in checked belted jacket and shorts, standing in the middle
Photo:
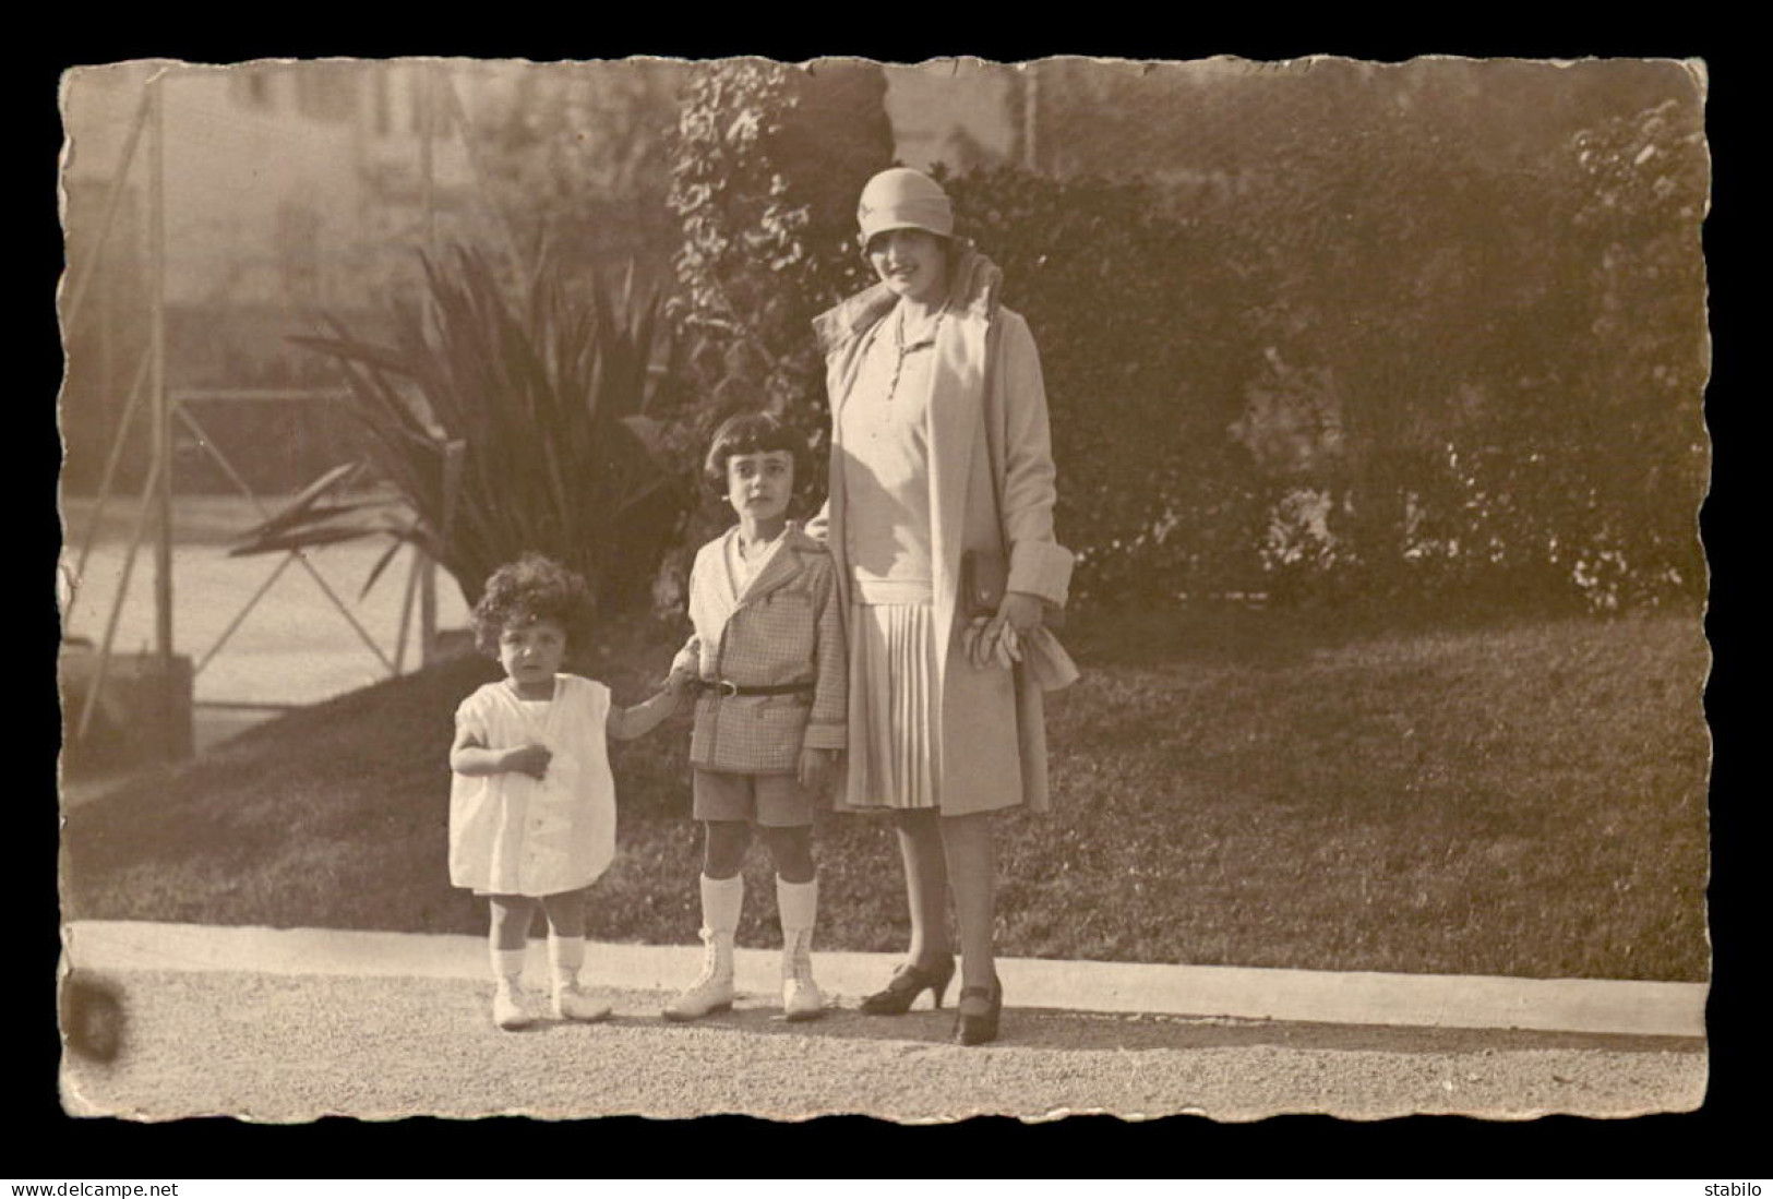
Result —
<instances>
[{"instance_id":1,"label":"child in checked belted jacket and shorts, standing in the middle","mask_svg":"<svg viewBox=\"0 0 1773 1199\"><path fill-rule=\"evenodd\" d=\"M702 974L665 1007L699 1020L732 1006L732 945L745 903L752 832L777 871L782 1013L812 1020L819 882L812 814L844 748L847 658L832 555L789 520L805 438L766 411L725 420L704 475L738 523L695 555L695 633L672 685L699 699L690 736L695 818L702 821Z\"/></svg>"}]
</instances>

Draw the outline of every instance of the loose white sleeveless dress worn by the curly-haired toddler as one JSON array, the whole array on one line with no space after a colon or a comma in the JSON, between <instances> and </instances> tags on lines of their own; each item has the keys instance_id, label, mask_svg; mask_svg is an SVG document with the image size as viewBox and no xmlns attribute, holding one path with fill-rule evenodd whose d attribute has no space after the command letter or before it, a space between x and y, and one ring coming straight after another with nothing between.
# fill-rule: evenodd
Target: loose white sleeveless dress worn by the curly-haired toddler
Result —
<instances>
[{"instance_id":1,"label":"loose white sleeveless dress worn by the curly-haired toddler","mask_svg":"<svg viewBox=\"0 0 1773 1199\"><path fill-rule=\"evenodd\" d=\"M555 676L555 697L523 701L488 683L456 709L456 727L488 748L546 745L543 779L450 775L449 874L491 896L557 896L598 882L615 858L615 779L605 722L610 688Z\"/></svg>"}]
</instances>

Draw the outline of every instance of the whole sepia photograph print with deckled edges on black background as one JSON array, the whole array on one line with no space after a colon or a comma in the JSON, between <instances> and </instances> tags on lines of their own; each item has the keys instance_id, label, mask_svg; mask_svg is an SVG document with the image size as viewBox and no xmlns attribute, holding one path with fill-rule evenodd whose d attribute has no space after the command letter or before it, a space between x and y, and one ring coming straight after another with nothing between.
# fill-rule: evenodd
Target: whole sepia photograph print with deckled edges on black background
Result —
<instances>
[{"instance_id":1,"label":"whole sepia photograph print with deckled edges on black background","mask_svg":"<svg viewBox=\"0 0 1773 1199\"><path fill-rule=\"evenodd\" d=\"M1697 1110L1706 103L66 71L62 1110Z\"/></svg>"}]
</instances>

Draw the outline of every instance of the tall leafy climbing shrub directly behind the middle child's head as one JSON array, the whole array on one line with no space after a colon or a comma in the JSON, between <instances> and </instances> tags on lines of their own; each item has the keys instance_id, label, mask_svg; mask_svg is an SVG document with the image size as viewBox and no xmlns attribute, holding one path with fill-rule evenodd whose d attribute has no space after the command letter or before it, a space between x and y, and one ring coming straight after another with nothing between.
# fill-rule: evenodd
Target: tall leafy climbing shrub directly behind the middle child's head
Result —
<instances>
[{"instance_id":1,"label":"tall leafy climbing shrub directly behind the middle child's head","mask_svg":"<svg viewBox=\"0 0 1773 1199\"><path fill-rule=\"evenodd\" d=\"M830 443L810 323L871 282L855 200L892 161L885 94L878 66L847 60L707 62L684 85L670 167L683 239L668 305L691 397L672 429L684 497L702 495L704 438L741 408L778 413L816 449ZM824 498L824 454L808 461L796 481L803 509ZM690 553L727 520L706 500L688 509L660 578L661 608L681 603Z\"/></svg>"}]
</instances>

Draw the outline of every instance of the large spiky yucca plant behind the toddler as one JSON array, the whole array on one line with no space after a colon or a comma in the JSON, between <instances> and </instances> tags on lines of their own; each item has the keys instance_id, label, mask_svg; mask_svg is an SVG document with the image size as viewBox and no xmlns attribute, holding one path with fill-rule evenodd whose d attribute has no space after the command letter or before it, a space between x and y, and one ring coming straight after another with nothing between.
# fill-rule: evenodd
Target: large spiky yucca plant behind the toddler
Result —
<instances>
[{"instance_id":1,"label":"large spiky yucca plant behind the toddler","mask_svg":"<svg viewBox=\"0 0 1773 1199\"><path fill-rule=\"evenodd\" d=\"M356 472L335 470L236 553L390 536L365 591L417 543L473 603L496 566L535 550L582 571L603 603L642 596L683 504L649 415L667 335L658 293L629 275L573 294L544 264L514 303L472 250L424 270L429 303L395 309L394 344L332 319L332 337L291 339L339 362L365 465L413 518L339 498Z\"/></svg>"}]
</instances>

